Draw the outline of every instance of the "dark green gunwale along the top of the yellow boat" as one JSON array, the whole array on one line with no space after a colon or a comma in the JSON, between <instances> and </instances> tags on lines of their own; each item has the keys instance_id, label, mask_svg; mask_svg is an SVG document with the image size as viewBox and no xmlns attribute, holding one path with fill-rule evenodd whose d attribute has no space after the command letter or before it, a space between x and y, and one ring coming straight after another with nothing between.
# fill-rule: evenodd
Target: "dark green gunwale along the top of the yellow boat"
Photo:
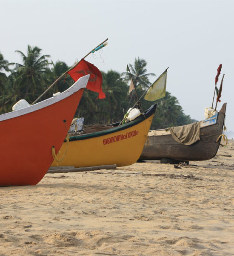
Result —
<instances>
[{"instance_id":1,"label":"dark green gunwale along the top of the yellow boat","mask_svg":"<svg viewBox=\"0 0 234 256\"><path fill-rule=\"evenodd\" d=\"M156 107L157 107L157 104L151 105L151 107L148 108L148 110L141 113L141 115L138 116L136 119L134 119L130 122L127 122L126 124L123 124L121 126L112 127L112 128L109 128L109 129L106 129L103 131L97 131L97 132L88 133L88 134L80 134L80 135L71 136L71 137L69 137L69 141L86 140L86 139L90 139L90 138L94 138L94 137L100 137L103 135L112 134L117 131L123 131L127 128L133 127L134 125L137 125L137 124L145 121L146 119L148 119L150 116L152 116L155 113ZM119 124L119 122L115 123L115 125L117 125L117 124Z\"/></svg>"}]
</instances>

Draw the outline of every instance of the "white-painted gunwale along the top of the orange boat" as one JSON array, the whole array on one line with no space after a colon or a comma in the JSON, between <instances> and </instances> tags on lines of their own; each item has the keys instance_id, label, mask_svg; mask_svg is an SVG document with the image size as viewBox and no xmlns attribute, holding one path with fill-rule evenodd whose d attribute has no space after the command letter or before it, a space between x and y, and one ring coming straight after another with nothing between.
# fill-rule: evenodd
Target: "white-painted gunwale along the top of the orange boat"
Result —
<instances>
[{"instance_id":1,"label":"white-painted gunwale along the top of the orange boat","mask_svg":"<svg viewBox=\"0 0 234 256\"><path fill-rule=\"evenodd\" d=\"M21 108L19 110L11 111L8 113L4 113L0 115L0 122L12 119L15 117L23 116L28 113L32 113L34 111L46 108L50 105L53 105L54 103L60 102L63 99L66 99L67 97L71 96L72 94L76 93L78 90L85 88L86 84L88 82L89 75L82 76L80 79L78 79L74 84L72 84L68 89L63 91L57 96L50 97L48 99L45 99L41 102L38 102L34 105L30 105L26 108Z\"/></svg>"}]
</instances>

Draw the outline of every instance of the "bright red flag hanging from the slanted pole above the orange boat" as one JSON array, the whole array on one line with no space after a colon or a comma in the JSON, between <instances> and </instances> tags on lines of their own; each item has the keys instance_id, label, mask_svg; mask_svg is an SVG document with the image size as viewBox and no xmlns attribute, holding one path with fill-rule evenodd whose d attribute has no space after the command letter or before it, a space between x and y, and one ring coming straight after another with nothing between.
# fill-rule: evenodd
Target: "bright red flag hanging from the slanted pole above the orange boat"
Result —
<instances>
[{"instance_id":1,"label":"bright red flag hanging from the slanted pole above the orange boat","mask_svg":"<svg viewBox=\"0 0 234 256\"><path fill-rule=\"evenodd\" d=\"M86 88L93 92L98 93L99 99L105 99L106 95L103 93L102 83L103 76L100 70L93 64L82 59L80 63L72 70L68 71L68 74L74 81L77 81L80 77L90 75Z\"/></svg>"}]
</instances>

